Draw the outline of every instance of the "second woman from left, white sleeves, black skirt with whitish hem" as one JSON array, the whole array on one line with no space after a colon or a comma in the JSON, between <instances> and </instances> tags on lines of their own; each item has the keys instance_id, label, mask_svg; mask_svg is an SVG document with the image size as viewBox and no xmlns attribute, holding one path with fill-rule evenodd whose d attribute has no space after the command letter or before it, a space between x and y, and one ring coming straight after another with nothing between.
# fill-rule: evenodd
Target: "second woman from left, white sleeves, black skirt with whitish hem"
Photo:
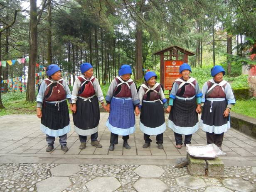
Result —
<instances>
[{"instance_id":1,"label":"second woman from left, white sleeves, black skirt with whitish hem","mask_svg":"<svg viewBox=\"0 0 256 192\"><path fill-rule=\"evenodd\" d=\"M81 142L79 149L86 148L87 135L91 135L92 146L101 148L102 145L97 140L100 121L98 102L106 109L103 93L98 79L93 76L93 66L83 63L80 70L82 75L76 78L71 95L74 127Z\"/></svg>"}]
</instances>

